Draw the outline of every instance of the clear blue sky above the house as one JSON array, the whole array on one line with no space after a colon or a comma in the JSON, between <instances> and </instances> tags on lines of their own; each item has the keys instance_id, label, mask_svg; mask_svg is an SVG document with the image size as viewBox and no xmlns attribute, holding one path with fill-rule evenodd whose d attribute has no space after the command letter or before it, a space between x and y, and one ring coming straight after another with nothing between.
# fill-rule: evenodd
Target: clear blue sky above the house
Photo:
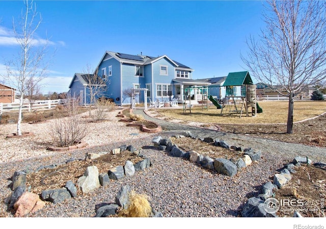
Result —
<instances>
[{"instance_id":1,"label":"clear blue sky above the house","mask_svg":"<svg viewBox=\"0 0 326 229\"><path fill-rule=\"evenodd\" d=\"M42 15L36 39L54 53L42 92L67 92L76 72L95 68L105 50L168 55L193 68L194 79L246 70L246 38L264 26L261 1L35 1ZM0 1L0 74L19 50L12 21L22 1ZM54 52L55 51L55 52ZM1 81L1 78L0 78Z\"/></svg>"}]
</instances>

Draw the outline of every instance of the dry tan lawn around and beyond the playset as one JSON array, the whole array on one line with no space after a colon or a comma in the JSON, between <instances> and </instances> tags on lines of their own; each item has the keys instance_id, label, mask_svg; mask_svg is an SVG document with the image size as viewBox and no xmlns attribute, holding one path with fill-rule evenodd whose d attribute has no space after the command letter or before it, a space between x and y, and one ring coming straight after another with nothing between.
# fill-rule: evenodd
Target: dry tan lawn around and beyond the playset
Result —
<instances>
[{"instance_id":1,"label":"dry tan lawn around and beyond the playset","mask_svg":"<svg viewBox=\"0 0 326 229\"><path fill-rule=\"evenodd\" d=\"M239 118L237 116L221 115L221 109L210 105L208 110L202 106L195 106L192 112L183 113L180 109L157 109L157 111L168 119L179 119L188 122L217 123L217 124L263 124L263 123L286 123L288 112L288 101L260 101L259 106L263 109L256 117L246 117L246 112ZM251 109L251 108L249 108ZM302 121L321 115L326 111L326 101L295 101L293 121Z\"/></svg>"}]
</instances>

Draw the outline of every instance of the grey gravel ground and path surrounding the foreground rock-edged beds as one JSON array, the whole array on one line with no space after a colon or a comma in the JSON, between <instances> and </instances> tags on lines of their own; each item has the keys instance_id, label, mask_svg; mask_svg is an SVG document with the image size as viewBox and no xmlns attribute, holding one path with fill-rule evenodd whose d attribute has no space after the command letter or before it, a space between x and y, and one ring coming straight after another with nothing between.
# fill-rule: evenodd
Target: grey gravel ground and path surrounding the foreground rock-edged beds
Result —
<instances>
[{"instance_id":1,"label":"grey gravel ground and path surrounding the foreground rock-edged beds","mask_svg":"<svg viewBox=\"0 0 326 229\"><path fill-rule=\"evenodd\" d=\"M142 111L137 110L137 112ZM152 120L150 117L145 117ZM152 207L165 217L237 217L247 199L257 196L260 186L270 181L276 170L295 156L308 155L313 161L326 161L325 148L226 134L175 123L171 125L164 121L157 122L164 129L162 133L140 134L126 139L124 132L119 131L119 136L124 140L116 140L107 146L77 150L69 154L58 153L14 163L2 163L0 164L0 197L3 199L11 193L7 188L10 183L7 179L15 170L36 169L40 165L64 162L70 157L85 158L87 152L110 150L126 144L143 148L142 153L151 158L153 166L137 172L132 177L113 181L108 187L101 187L92 193L69 199L61 204L48 203L29 217L93 217L97 207L103 203L114 203L117 192L126 184L139 193L147 194ZM133 132L137 130L129 129ZM151 139L154 135L170 137L184 130L190 130L196 135L218 136L231 145L261 150L262 159L230 178L202 169L188 160L171 157L152 147ZM106 132L109 134L110 129ZM12 217L4 203L0 204L0 216Z\"/></svg>"}]
</instances>

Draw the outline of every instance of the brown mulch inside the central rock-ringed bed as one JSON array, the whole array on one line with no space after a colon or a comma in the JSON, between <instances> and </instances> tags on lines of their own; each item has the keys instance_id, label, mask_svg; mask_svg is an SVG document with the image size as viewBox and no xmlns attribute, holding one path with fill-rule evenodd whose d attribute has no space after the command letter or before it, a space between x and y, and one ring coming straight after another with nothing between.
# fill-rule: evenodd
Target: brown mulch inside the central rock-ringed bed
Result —
<instances>
[{"instance_id":1,"label":"brown mulch inside the central rock-ringed bed","mask_svg":"<svg viewBox=\"0 0 326 229\"><path fill-rule=\"evenodd\" d=\"M180 149L184 151L196 151L204 156L209 156L210 158L239 158L243 155L242 152L228 150L223 147L214 146L214 142L207 143L199 139L193 139L189 137L181 138L170 138L173 144L176 144Z\"/></svg>"}]
</instances>

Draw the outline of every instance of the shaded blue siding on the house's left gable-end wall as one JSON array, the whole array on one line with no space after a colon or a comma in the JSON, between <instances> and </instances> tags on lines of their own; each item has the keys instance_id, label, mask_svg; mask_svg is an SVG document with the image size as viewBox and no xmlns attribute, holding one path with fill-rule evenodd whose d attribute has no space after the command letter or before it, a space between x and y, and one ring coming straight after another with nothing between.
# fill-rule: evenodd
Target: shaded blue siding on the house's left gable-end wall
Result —
<instances>
[{"instance_id":1,"label":"shaded blue siding on the house's left gable-end wall","mask_svg":"<svg viewBox=\"0 0 326 229\"><path fill-rule=\"evenodd\" d=\"M105 59L104 59L105 60ZM112 66L112 76L108 76L108 67ZM105 92L106 98L113 98L116 104L121 105L121 77L120 77L120 62L114 58L102 61L98 67L98 72L101 74L102 68L106 68L107 74L107 90ZM119 101L116 100L119 98Z\"/></svg>"}]
</instances>

